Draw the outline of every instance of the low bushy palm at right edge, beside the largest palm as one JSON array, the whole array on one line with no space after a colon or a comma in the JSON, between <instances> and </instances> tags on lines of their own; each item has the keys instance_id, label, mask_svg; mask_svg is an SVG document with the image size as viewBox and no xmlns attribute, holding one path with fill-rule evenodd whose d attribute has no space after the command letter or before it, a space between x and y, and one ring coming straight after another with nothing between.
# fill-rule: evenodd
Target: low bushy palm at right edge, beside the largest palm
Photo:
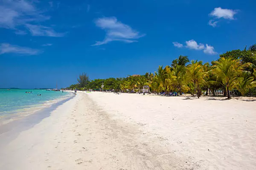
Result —
<instances>
[{"instance_id":1,"label":"low bushy palm at right edge, beside the largest palm","mask_svg":"<svg viewBox=\"0 0 256 170\"><path fill-rule=\"evenodd\" d=\"M241 93L241 96L247 94L251 88L256 87L256 82L253 79L254 77L247 72L242 72L241 76L237 78L235 87Z\"/></svg>"}]
</instances>

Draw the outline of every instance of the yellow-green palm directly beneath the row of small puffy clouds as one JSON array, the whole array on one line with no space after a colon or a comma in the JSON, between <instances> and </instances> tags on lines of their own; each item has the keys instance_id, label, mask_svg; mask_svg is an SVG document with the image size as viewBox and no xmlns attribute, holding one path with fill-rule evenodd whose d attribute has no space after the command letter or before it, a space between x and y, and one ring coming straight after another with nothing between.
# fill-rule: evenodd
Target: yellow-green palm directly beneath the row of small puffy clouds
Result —
<instances>
[{"instance_id":1,"label":"yellow-green palm directly beneath the row of small puffy clouds","mask_svg":"<svg viewBox=\"0 0 256 170\"><path fill-rule=\"evenodd\" d=\"M197 90L198 98L201 96L201 88L200 85L204 82L204 66L202 61L192 60L191 64L187 66L186 71L187 77L189 81L191 81L194 85L194 91L192 95L194 96L195 90Z\"/></svg>"}]
</instances>

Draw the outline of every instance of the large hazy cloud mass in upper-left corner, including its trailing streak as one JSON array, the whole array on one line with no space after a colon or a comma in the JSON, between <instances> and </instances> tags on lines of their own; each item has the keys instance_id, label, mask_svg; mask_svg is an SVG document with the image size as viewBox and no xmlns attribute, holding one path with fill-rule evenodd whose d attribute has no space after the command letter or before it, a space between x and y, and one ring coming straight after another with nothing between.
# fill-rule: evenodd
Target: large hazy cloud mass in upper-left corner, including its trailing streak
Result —
<instances>
[{"instance_id":1,"label":"large hazy cloud mass in upper-left corner, including its trailing streak","mask_svg":"<svg viewBox=\"0 0 256 170\"><path fill-rule=\"evenodd\" d=\"M33 33L31 28L38 27L43 29L41 32L44 33L40 34L41 36L62 37L60 36L62 33L56 33L52 28L35 25L50 19L49 16L44 14L43 10L36 8L35 4L35 1L27 0L1 0L0 28L15 30L15 34L24 34L24 28L29 28L29 31ZM49 4L52 3L49 2Z\"/></svg>"}]
</instances>

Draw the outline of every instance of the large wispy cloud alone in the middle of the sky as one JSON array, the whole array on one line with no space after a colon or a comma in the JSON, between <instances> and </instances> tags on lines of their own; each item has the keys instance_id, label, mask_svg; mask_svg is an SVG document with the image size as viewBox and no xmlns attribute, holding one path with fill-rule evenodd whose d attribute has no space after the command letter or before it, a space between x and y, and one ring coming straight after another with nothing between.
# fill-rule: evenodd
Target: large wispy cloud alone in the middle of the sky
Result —
<instances>
[{"instance_id":1,"label":"large wispy cloud alone in the middle of the sky","mask_svg":"<svg viewBox=\"0 0 256 170\"><path fill-rule=\"evenodd\" d=\"M96 20L96 26L106 31L106 36L103 41L96 41L94 45L107 44L111 41L122 41L122 42L137 42L137 39L145 36L130 26L117 21L116 17L102 17Z\"/></svg>"}]
</instances>

